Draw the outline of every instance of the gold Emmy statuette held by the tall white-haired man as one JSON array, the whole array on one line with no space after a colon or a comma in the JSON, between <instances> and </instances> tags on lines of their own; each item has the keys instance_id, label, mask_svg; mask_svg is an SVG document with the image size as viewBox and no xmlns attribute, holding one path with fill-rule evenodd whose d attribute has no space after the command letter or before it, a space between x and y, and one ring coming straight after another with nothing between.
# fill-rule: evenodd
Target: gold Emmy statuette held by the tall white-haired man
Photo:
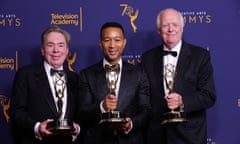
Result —
<instances>
[{"instance_id":1,"label":"gold Emmy statuette held by the tall white-haired man","mask_svg":"<svg viewBox=\"0 0 240 144\"><path fill-rule=\"evenodd\" d=\"M174 92L174 79L176 76L175 66L173 64L167 64L164 66L164 80L166 82L168 93ZM169 112L164 113L164 120L161 124L167 123L181 123L186 122L183 107L180 106L177 109L171 109Z\"/></svg>"}]
</instances>

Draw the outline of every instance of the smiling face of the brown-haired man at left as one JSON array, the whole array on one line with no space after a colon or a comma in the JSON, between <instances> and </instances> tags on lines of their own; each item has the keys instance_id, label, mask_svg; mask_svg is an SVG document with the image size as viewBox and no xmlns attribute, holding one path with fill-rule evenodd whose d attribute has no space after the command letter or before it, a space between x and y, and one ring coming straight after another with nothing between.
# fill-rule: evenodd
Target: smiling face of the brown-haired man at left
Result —
<instances>
[{"instance_id":1,"label":"smiling face of the brown-haired man at left","mask_svg":"<svg viewBox=\"0 0 240 144\"><path fill-rule=\"evenodd\" d=\"M44 38L41 52L46 62L52 67L60 68L68 55L68 51L69 48L62 33L50 32Z\"/></svg>"}]
</instances>

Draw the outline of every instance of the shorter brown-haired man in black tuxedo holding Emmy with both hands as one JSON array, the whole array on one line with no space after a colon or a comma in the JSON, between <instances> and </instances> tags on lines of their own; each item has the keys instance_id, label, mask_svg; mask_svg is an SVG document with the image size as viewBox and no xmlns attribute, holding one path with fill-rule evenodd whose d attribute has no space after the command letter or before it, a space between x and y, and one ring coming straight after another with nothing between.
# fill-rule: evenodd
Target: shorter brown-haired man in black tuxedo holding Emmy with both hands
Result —
<instances>
[{"instance_id":1,"label":"shorter brown-haired man in black tuxedo holding Emmy with both hands","mask_svg":"<svg viewBox=\"0 0 240 144\"><path fill-rule=\"evenodd\" d=\"M70 144L79 134L80 127L75 122L73 131L65 135L47 128L50 122L60 117L74 120L77 74L63 68L70 39L70 34L58 26L47 28L41 35L43 62L24 66L17 71L10 107L16 143ZM51 73L51 69L59 70L61 74ZM61 93L57 93L56 89ZM59 102L61 114L58 113Z\"/></svg>"}]
</instances>

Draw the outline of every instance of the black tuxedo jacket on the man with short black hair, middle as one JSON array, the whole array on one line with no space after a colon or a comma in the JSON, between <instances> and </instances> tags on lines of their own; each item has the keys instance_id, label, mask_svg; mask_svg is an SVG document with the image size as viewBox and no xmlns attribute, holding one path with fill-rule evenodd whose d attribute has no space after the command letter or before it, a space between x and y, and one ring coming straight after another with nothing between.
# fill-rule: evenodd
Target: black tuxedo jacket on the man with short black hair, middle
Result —
<instances>
[{"instance_id":1,"label":"black tuxedo jacket on the man with short black hair, middle","mask_svg":"<svg viewBox=\"0 0 240 144\"><path fill-rule=\"evenodd\" d=\"M132 119L133 129L128 134L98 124L100 102L109 92L103 61L80 72L79 86L79 115L87 127L84 144L143 144L150 104L149 83L140 67L123 62L117 110Z\"/></svg>"}]
</instances>

